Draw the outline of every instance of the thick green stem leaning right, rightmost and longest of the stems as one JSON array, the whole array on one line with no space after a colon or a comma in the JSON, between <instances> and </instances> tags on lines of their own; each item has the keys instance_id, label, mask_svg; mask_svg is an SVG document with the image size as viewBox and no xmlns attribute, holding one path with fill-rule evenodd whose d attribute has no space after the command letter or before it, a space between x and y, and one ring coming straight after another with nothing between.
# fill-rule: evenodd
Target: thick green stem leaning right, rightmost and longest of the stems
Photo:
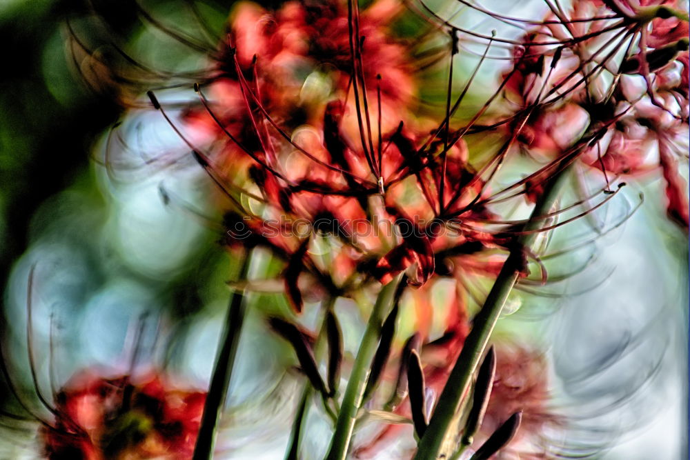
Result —
<instances>
[{"instance_id":1,"label":"thick green stem leaning right, rightmost and longest of the stems","mask_svg":"<svg viewBox=\"0 0 690 460\"><path fill-rule=\"evenodd\" d=\"M543 219L540 217L548 214L553 208L566 172L569 170L570 167L564 167L545 184L544 192L538 199L523 230L537 230L542 226ZM517 243L515 248L511 250L503 264L489 296L484 301L484 306L473 319L472 330L465 339L460 357L455 361L448 383L446 383L433 416L429 420L428 428L420 439L415 460L435 460L440 453L444 439L446 439L446 432L453 421L453 417L455 417L460 400L469 390L472 374L479 366L491 332L493 332L506 299L508 299L515 281L517 281L523 260L522 250L523 248L530 248L537 234L537 232L523 233L515 240Z\"/></svg>"}]
</instances>

